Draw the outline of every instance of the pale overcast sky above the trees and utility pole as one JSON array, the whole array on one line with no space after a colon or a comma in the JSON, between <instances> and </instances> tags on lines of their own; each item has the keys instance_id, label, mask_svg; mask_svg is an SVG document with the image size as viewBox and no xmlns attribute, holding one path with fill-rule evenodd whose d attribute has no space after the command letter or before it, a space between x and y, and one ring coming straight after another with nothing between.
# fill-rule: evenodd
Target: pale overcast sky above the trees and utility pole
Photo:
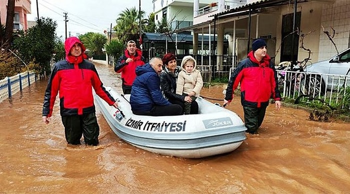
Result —
<instances>
[{"instance_id":1,"label":"pale overcast sky above the trees and utility pole","mask_svg":"<svg viewBox=\"0 0 350 194\"><path fill-rule=\"evenodd\" d=\"M109 30L116 24L118 14L126 8L136 7L138 10L139 0L37 0L39 17L50 17L57 22L57 36L65 36L63 12L67 12L67 36L69 31L72 36L85 32L100 32ZM146 15L153 11L152 0L141 0L141 9ZM37 17L36 0L31 0L31 14L28 20Z\"/></svg>"}]
</instances>

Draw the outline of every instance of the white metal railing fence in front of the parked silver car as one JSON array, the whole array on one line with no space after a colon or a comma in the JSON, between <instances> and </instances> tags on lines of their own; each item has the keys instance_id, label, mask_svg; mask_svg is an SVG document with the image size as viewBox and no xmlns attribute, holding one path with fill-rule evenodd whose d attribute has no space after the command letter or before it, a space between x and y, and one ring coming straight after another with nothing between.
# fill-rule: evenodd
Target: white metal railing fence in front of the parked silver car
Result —
<instances>
[{"instance_id":1,"label":"white metal railing fence in front of the parked silver car","mask_svg":"<svg viewBox=\"0 0 350 194\"><path fill-rule=\"evenodd\" d=\"M350 75L277 70L283 98L350 109Z\"/></svg>"}]
</instances>

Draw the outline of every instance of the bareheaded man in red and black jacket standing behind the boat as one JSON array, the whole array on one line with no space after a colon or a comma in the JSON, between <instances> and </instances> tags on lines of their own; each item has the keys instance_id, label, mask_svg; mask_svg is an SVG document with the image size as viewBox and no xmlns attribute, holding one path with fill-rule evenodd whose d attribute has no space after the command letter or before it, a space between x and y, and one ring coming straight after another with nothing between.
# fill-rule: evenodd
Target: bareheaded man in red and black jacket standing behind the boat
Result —
<instances>
[{"instance_id":1,"label":"bareheaded man in red and black jacket standing behind the boat","mask_svg":"<svg viewBox=\"0 0 350 194\"><path fill-rule=\"evenodd\" d=\"M114 71L121 73L121 88L124 94L130 94L133 80L136 77L136 67L144 64L142 51L136 48L136 43L129 40L124 54L119 57L114 65Z\"/></svg>"}]
</instances>

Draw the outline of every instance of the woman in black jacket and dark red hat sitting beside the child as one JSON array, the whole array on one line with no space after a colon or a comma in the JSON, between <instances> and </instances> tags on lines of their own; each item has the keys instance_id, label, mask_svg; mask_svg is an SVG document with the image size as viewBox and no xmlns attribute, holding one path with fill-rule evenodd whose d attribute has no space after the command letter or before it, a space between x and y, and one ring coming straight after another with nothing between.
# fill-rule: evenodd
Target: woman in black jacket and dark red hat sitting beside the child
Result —
<instances>
[{"instance_id":1,"label":"woman in black jacket and dark red hat sitting beside the child","mask_svg":"<svg viewBox=\"0 0 350 194\"><path fill-rule=\"evenodd\" d=\"M182 109L184 102L191 102L192 99L186 95L176 94L176 80L178 72L181 70L179 66L176 66L176 57L173 53L164 54L163 65L165 66L164 70L160 73L160 87L161 91L164 93L165 98L172 104L179 104ZM198 113L198 103L193 101L191 103L190 114Z\"/></svg>"}]
</instances>

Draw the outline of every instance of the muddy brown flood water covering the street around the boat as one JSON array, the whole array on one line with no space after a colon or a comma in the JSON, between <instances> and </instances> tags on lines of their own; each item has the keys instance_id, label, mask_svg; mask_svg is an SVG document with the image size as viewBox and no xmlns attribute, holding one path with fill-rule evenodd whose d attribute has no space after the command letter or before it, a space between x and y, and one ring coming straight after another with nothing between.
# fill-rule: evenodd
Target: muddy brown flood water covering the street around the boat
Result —
<instances>
[{"instance_id":1,"label":"muddy brown flood water covering the street around the boat","mask_svg":"<svg viewBox=\"0 0 350 194\"><path fill-rule=\"evenodd\" d=\"M111 67L105 85L120 88ZM308 120L273 104L258 134L234 151L199 159L159 155L118 138L97 109L98 146L67 145L58 99L41 121L47 81L0 103L0 193L349 193L350 123ZM222 87L202 96L223 98ZM222 103L222 101L214 101ZM228 106L243 117L238 96Z\"/></svg>"}]
</instances>

